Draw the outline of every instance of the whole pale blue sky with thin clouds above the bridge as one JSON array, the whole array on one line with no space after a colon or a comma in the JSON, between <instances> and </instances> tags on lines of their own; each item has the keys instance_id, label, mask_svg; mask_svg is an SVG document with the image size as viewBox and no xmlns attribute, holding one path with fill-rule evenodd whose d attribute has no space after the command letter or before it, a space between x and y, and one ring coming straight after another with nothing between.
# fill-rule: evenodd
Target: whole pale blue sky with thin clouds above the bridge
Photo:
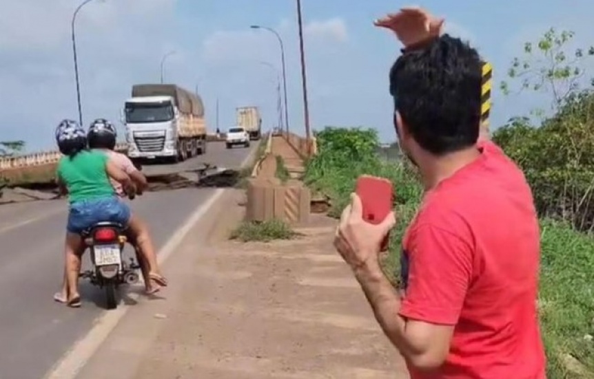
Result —
<instances>
[{"instance_id":1,"label":"whole pale blue sky with thin clouds above the bridge","mask_svg":"<svg viewBox=\"0 0 594 379\"><path fill-rule=\"evenodd\" d=\"M302 0L311 125L375 127L382 140L395 139L387 73L400 46L373 19L409 5L387 0ZM0 139L23 139L28 150L52 148L52 131L62 118L76 118L70 17L79 0L19 0L0 14ZM447 31L471 41L495 67L495 82L525 41L555 26L576 32L575 42L592 41L588 27L594 3L575 0L424 1L418 5L446 18ZM24 20L24 21L23 21ZM234 109L258 105L263 126L276 116L276 73L280 54L276 29L287 52L291 129L303 132L296 1L294 0L96 0L77 25L83 116L118 121L134 83L157 82L166 52L165 78L198 91L209 129L231 127ZM544 107L543 95L504 98L495 91L493 126L510 116Z\"/></svg>"}]
</instances>

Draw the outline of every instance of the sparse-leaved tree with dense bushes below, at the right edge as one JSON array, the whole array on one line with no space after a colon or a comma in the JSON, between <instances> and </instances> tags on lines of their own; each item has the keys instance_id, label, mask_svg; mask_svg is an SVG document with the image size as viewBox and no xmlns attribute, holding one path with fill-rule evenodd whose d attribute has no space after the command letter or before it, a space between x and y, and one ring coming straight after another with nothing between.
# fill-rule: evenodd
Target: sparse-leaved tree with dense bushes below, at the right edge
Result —
<instances>
[{"instance_id":1,"label":"sparse-leaved tree with dense bushes below, at the right edge","mask_svg":"<svg viewBox=\"0 0 594 379\"><path fill-rule=\"evenodd\" d=\"M594 94L584 67L594 47L572 49L573 36L551 28L536 43L524 44L524 56L513 59L509 81L501 87L504 94L510 94L513 85L519 91L549 94L553 116L533 111L540 116L537 128L529 118L513 118L493 139L524 170L541 215L592 230Z\"/></svg>"}]
</instances>

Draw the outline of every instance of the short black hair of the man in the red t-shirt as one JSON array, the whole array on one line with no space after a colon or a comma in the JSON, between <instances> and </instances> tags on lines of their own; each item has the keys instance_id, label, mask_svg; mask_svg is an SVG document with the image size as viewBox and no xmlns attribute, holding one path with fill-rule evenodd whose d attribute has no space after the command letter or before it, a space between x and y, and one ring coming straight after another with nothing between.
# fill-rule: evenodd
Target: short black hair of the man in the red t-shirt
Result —
<instances>
[{"instance_id":1,"label":"short black hair of the man in the red t-shirt","mask_svg":"<svg viewBox=\"0 0 594 379\"><path fill-rule=\"evenodd\" d=\"M476 143L481 75L478 52L448 34L393 64L390 94L422 149L444 155Z\"/></svg>"}]
</instances>

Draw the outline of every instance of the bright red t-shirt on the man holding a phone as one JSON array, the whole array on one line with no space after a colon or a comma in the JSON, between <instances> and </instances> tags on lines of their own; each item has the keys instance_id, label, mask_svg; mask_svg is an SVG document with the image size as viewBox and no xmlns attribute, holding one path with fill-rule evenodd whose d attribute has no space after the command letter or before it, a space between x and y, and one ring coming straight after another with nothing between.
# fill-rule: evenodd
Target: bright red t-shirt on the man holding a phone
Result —
<instances>
[{"instance_id":1,"label":"bright red t-shirt on the man holding a phone","mask_svg":"<svg viewBox=\"0 0 594 379\"><path fill-rule=\"evenodd\" d=\"M449 356L412 379L542 379L540 230L522 171L492 142L428 191L403 241L400 315L455 325Z\"/></svg>"}]
</instances>

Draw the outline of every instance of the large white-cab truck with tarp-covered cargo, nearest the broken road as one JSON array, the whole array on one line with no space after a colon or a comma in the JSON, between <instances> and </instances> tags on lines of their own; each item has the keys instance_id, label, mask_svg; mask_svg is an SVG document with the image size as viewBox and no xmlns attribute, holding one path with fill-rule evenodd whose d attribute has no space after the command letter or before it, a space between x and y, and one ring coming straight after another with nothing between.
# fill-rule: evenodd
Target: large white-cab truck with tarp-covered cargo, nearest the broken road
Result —
<instances>
[{"instance_id":1,"label":"large white-cab truck with tarp-covered cargo, nearest the broken road","mask_svg":"<svg viewBox=\"0 0 594 379\"><path fill-rule=\"evenodd\" d=\"M135 163L165 159L181 162L206 153L204 105L197 94L176 85L132 86L125 102L128 157Z\"/></svg>"}]
</instances>

